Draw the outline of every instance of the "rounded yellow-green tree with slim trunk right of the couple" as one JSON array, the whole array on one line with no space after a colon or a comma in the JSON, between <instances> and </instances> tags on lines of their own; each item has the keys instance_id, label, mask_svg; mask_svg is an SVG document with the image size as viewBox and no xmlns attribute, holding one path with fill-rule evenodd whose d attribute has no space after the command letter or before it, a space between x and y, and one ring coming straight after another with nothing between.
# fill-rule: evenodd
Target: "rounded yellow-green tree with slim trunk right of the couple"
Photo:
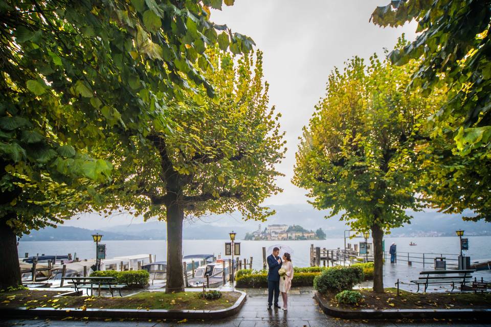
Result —
<instances>
[{"instance_id":1,"label":"rounded yellow-green tree with slim trunk right of the couple","mask_svg":"<svg viewBox=\"0 0 491 327\"><path fill-rule=\"evenodd\" d=\"M421 116L436 99L406 90L414 63L393 66L373 56L347 62L329 76L297 152L293 182L311 203L341 213L352 229L372 232L375 292L383 292L384 232L409 223L418 210L415 165Z\"/></svg>"}]
</instances>

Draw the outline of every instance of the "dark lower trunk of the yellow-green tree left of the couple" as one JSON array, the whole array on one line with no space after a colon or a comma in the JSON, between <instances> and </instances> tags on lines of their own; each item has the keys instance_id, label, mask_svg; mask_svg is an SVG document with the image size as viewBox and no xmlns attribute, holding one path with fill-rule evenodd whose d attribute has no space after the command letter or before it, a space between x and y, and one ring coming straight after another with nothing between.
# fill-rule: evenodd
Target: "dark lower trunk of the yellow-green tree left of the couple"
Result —
<instances>
[{"instance_id":1,"label":"dark lower trunk of the yellow-green tree left of the couple","mask_svg":"<svg viewBox=\"0 0 491 327\"><path fill-rule=\"evenodd\" d=\"M166 293L184 292L183 221L184 208L176 201L166 204L167 209L167 273Z\"/></svg>"}]
</instances>

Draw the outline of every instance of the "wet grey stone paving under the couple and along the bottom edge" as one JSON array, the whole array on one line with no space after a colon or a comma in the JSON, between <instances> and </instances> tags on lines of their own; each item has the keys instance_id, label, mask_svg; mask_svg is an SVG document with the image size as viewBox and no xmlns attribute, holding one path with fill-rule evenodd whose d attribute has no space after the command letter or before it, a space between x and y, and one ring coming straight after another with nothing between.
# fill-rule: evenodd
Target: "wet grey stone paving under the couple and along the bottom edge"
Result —
<instances>
[{"instance_id":1,"label":"wet grey stone paving under the couple and along the bottom edge","mask_svg":"<svg viewBox=\"0 0 491 327\"><path fill-rule=\"evenodd\" d=\"M164 327L164 326L240 326L240 327L320 327L320 326L408 326L409 323L398 323L389 321L353 321L342 320L326 316L313 299L311 288L295 288L294 294L288 298L288 311L266 310L267 296L263 289L248 289L248 299L242 310L234 317L210 321L187 321L178 323L176 321L76 321L76 320L0 320L0 326L26 326L26 327L61 327L61 326L90 326L90 327ZM281 300L280 300L281 302ZM444 326L448 321L431 321L429 323L411 323L411 326ZM457 326L477 326L483 327L484 324L470 324L452 322Z\"/></svg>"}]
</instances>

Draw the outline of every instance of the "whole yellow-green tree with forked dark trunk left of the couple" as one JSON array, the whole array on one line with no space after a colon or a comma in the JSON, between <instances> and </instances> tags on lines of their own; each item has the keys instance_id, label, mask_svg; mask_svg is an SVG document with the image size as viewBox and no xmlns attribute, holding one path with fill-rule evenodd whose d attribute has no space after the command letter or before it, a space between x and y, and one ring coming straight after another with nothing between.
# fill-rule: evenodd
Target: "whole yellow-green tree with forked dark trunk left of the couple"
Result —
<instances>
[{"instance_id":1,"label":"whole yellow-green tree with forked dark trunk left of the couple","mask_svg":"<svg viewBox=\"0 0 491 327\"><path fill-rule=\"evenodd\" d=\"M172 123L154 124L145 146L117 146L110 158L116 171L133 168L129 178L115 175L107 190L114 203L167 223L167 292L184 289L186 217L238 209L243 219L264 220L273 212L261 203L280 191L274 166L285 151L283 134L279 114L268 107L261 52L253 60L210 50L209 58L216 68L206 76L216 97L167 103Z\"/></svg>"}]
</instances>

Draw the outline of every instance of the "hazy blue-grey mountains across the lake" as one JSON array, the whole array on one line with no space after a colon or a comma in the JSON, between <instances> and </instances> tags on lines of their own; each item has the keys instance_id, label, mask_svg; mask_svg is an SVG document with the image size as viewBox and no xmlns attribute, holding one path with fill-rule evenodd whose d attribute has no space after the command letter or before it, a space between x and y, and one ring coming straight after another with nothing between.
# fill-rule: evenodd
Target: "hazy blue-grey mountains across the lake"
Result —
<instances>
[{"instance_id":1,"label":"hazy blue-grey mountains across the lake","mask_svg":"<svg viewBox=\"0 0 491 327\"><path fill-rule=\"evenodd\" d=\"M243 239L246 232L258 228L264 229L270 224L301 225L305 229L316 230L319 227L326 232L327 238L343 237L344 230L349 229L339 217L324 219L328 211L319 211L308 204L288 204L270 206L276 214L266 222L243 221L239 213L231 215L213 215L197 221L186 221L183 228L183 238L187 240L229 239L229 232L237 232L237 239ZM491 235L491 223L484 221L463 221L462 215L446 215L435 211L410 212L414 218L410 224L395 228L391 236L455 236L455 230L464 229L466 236ZM471 216L471 212L464 213ZM85 228L60 225L58 228L33 230L23 241L63 241L91 240L94 232L104 234L105 240L165 240L167 238L166 224L162 221L147 221L90 230Z\"/></svg>"}]
</instances>

